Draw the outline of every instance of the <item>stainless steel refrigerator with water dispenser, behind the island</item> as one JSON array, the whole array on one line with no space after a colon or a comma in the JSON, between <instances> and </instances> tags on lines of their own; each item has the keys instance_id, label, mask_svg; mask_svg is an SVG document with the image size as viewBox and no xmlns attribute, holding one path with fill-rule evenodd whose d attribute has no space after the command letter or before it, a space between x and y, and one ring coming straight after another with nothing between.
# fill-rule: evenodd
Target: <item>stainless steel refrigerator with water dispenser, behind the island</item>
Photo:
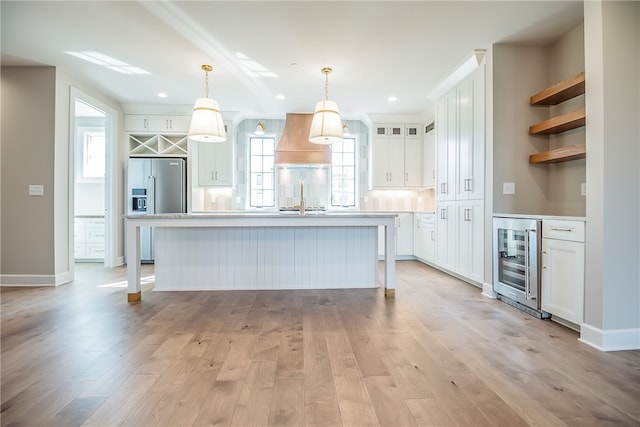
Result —
<instances>
[{"instance_id":1,"label":"stainless steel refrigerator with water dispenser, behind the island","mask_svg":"<svg viewBox=\"0 0 640 427\"><path fill-rule=\"evenodd\" d=\"M129 215L184 213L187 210L186 162L179 157L135 157L127 167ZM153 262L153 230L140 228L140 259Z\"/></svg>"}]
</instances>

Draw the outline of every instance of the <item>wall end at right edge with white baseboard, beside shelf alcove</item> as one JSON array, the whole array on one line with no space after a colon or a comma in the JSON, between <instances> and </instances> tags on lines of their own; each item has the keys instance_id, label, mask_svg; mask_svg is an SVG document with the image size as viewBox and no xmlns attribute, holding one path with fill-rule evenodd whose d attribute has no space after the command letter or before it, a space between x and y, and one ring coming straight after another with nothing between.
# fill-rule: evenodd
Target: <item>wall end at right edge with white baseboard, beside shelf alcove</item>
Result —
<instances>
[{"instance_id":1,"label":"wall end at right edge with white baseboard, beside shelf alcove","mask_svg":"<svg viewBox=\"0 0 640 427\"><path fill-rule=\"evenodd\" d=\"M585 2L587 229L581 340L640 348L640 3Z\"/></svg>"}]
</instances>

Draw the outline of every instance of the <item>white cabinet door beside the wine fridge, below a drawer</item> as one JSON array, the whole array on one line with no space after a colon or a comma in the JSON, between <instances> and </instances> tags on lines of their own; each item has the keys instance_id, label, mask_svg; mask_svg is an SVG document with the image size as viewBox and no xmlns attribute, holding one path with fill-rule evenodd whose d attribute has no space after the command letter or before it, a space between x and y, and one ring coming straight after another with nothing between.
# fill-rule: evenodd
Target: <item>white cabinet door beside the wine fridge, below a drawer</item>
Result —
<instances>
[{"instance_id":1,"label":"white cabinet door beside the wine fridge, below a drawer","mask_svg":"<svg viewBox=\"0 0 640 427\"><path fill-rule=\"evenodd\" d=\"M542 309L580 325L584 307L584 243L542 239Z\"/></svg>"}]
</instances>

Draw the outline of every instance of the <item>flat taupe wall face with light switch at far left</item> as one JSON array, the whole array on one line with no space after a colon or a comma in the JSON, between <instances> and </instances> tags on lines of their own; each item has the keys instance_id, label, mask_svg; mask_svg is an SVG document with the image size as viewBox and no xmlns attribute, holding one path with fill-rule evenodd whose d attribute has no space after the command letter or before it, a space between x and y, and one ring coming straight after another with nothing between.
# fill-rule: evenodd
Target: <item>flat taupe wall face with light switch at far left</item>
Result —
<instances>
[{"instance_id":1,"label":"flat taupe wall face with light switch at far left","mask_svg":"<svg viewBox=\"0 0 640 427\"><path fill-rule=\"evenodd\" d=\"M3 275L55 274L55 79L52 67L2 67Z\"/></svg>"}]
</instances>

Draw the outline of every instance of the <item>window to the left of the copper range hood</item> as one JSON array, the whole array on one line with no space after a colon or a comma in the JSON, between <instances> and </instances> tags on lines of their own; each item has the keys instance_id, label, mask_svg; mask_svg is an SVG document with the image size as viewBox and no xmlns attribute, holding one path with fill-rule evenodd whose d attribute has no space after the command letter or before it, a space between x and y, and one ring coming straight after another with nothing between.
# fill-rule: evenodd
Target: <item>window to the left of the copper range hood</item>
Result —
<instances>
[{"instance_id":1,"label":"window to the left of the copper range hood","mask_svg":"<svg viewBox=\"0 0 640 427\"><path fill-rule=\"evenodd\" d=\"M273 136L249 137L249 206L275 206L276 139Z\"/></svg>"}]
</instances>

